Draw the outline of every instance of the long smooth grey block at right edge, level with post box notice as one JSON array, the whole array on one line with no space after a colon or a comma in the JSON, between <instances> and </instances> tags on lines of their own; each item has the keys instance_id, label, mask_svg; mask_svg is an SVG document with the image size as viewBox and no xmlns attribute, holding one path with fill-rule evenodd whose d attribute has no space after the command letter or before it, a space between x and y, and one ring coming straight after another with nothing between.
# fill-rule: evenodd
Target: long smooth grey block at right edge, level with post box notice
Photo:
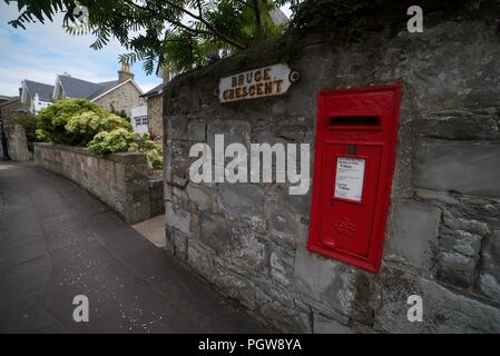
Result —
<instances>
[{"instance_id":1,"label":"long smooth grey block at right edge, level with post box notice","mask_svg":"<svg viewBox=\"0 0 500 356\"><path fill-rule=\"evenodd\" d=\"M421 188L500 197L500 145L425 142L414 171Z\"/></svg>"}]
</instances>

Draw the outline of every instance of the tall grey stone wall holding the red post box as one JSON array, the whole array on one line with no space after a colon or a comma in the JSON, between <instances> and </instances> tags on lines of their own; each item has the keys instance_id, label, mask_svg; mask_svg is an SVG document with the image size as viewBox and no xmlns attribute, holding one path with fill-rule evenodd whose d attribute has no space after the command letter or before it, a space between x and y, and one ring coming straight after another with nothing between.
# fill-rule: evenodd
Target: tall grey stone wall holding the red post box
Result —
<instances>
[{"instance_id":1,"label":"tall grey stone wall holding the red post box","mask_svg":"<svg viewBox=\"0 0 500 356\"><path fill-rule=\"evenodd\" d=\"M169 251L285 332L499 333L498 24L449 21L360 44L301 44L288 65L302 79L284 97L220 105L214 96L220 77L282 61L272 47L165 88ZM311 190L188 179L195 142L225 134L226 145L314 144L317 90L396 81L398 158L379 274L306 249ZM408 320L410 295L423 298L422 323Z\"/></svg>"}]
</instances>

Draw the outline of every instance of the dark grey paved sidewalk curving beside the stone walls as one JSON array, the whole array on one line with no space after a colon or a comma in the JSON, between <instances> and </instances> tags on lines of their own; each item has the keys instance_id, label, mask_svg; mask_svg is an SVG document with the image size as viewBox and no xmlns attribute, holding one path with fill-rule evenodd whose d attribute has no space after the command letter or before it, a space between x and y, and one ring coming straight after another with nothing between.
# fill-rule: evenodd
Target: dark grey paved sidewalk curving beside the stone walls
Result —
<instances>
[{"instance_id":1,"label":"dark grey paved sidewalk curving beside the stone walls","mask_svg":"<svg viewBox=\"0 0 500 356\"><path fill-rule=\"evenodd\" d=\"M268 332L73 182L0 162L0 333Z\"/></svg>"}]
</instances>

